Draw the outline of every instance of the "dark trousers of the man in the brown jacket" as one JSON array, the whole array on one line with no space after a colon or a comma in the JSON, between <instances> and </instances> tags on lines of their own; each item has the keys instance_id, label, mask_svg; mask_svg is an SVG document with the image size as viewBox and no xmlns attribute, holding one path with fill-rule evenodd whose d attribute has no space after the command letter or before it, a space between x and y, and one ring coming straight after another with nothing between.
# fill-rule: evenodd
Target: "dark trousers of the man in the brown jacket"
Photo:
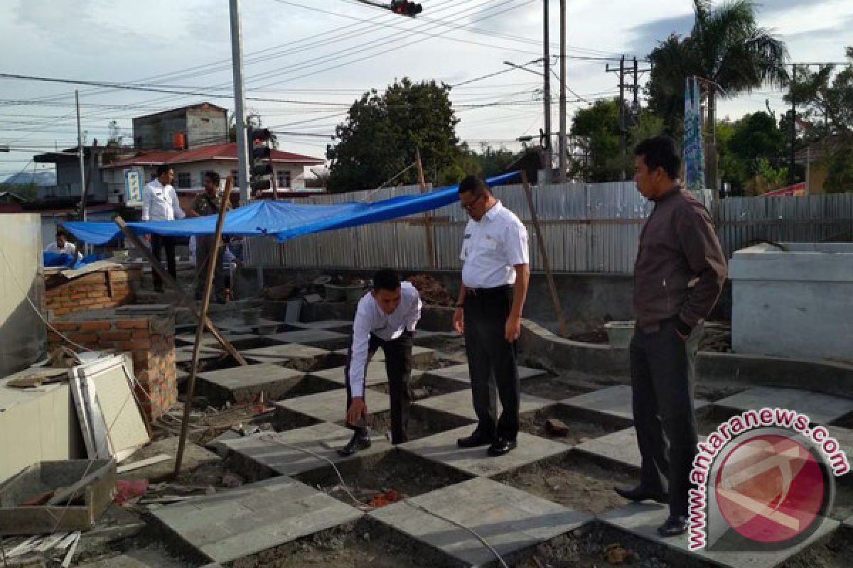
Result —
<instances>
[{"instance_id":1,"label":"dark trousers of the man in the brown jacket","mask_svg":"<svg viewBox=\"0 0 853 568\"><path fill-rule=\"evenodd\" d=\"M702 326L682 340L674 324L635 330L630 343L634 427L641 484L670 492L670 514L688 514L693 456L699 441L693 413L694 360Z\"/></svg>"}]
</instances>

